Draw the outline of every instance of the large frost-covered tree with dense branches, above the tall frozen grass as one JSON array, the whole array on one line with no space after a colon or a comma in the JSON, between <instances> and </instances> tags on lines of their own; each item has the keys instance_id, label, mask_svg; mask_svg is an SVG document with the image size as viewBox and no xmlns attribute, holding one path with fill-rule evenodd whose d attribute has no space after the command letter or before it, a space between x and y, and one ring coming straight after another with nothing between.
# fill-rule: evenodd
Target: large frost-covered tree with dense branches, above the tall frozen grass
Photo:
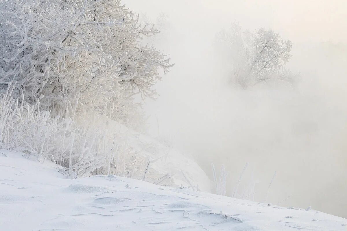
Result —
<instances>
[{"instance_id":1,"label":"large frost-covered tree with dense branches, above the tall frozen grass","mask_svg":"<svg viewBox=\"0 0 347 231\"><path fill-rule=\"evenodd\" d=\"M134 95L155 96L172 66L141 43L158 32L119 0L0 0L0 90L14 84L13 97L62 117L126 124Z\"/></svg>"}]
</instances>

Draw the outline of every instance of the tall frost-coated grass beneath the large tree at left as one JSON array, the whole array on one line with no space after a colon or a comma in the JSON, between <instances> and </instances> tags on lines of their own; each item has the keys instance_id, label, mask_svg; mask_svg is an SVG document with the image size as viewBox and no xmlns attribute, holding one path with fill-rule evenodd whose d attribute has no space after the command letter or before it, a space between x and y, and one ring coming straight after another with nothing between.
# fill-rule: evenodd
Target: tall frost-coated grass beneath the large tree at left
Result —
<instances>
[{"instance_id":1,"label":"tall frost-coated grass beneath the large tree at left","mask_svg":"<svg viewBox=\"0 0 347 231\"><path fill-rule=\"evenodd\" d=\"M170 175L151 169L148 158L128 142L132 136L124 126L116 130L96 115L78 122L51 117L40 111L40 103L13 99L12 90L0 95L0 149L32 154L41 162L52 160L69 178L113 174L172 184Z\"/></svg>"}]
</instances>

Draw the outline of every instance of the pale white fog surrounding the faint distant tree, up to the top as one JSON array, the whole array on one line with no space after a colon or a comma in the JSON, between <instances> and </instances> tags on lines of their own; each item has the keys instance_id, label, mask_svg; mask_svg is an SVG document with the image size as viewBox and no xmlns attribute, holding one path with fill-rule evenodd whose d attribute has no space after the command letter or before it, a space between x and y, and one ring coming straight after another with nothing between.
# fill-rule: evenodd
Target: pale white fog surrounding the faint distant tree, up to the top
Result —
<instances>
[{"instance_id":1,"label":"pale white fog surrounding the faint distant tree, up to the top","mask_svg":"<svg viewBox=\"0 0 347 231\"><path fill-rule=\"evenodd\" d=\"M347 217L345 1L125 2L153 21L168 15L155 43L175 66L156 85L158 100L146 101L151 135L192 155L210 177L211 162L218 171L224 164L228 196L248 162L240 197ZM301 73L293 87L228 84L214 42L235 20L293 42L288 67Z\"/></svg>"}]
</instances>

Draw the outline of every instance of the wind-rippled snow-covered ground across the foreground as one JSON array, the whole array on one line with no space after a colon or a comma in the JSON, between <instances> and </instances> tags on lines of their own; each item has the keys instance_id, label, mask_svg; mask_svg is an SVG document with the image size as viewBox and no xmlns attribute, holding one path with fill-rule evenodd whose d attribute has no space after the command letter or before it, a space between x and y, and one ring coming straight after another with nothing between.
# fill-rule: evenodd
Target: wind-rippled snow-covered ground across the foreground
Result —
<instances>
[{"instance_id":1,"label":"wind-rippled snow-covered ground across the foreground","mask_svg":"<svg viewBox=\"0 0 347 231\"><path fill-rule=\"evenodd\" d=\"M66 179L0 151L0 230L347 230L347 220L110 176Z\"/></svg>"}]
</instances>

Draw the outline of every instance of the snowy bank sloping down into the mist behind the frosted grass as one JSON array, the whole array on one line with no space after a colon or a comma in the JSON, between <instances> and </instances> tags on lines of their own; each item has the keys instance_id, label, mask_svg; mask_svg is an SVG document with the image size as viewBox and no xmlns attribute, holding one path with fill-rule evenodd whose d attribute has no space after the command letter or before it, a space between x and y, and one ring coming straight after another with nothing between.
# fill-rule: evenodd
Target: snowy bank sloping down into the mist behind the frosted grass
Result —
<instances>
[{"instance_id":1,"label":"snowy bank sloping down into the mist behind the frosted grass","mask_svg":"<svg viewBox=\"0 0 347 231\"><path fill-rule=\"evenodd\" d=\"M128 155L121 160L121 162L128 163L124 172L133 172L133 163L142 166L142 169L139 167L139 170L136 171L137 174L127 175L128 178L143 179L147 163L150 161L149 172L146 175L147 181L163 186L183 186L202 192L211 192L212 181L194 159L186 153L181 153L164 142L134 131L104 116L98 116L97 119L90 117L90 121L93 121L89 124L91 130L102 130L105 132L105 137L113 137L115 131L121 134L118 139L126 144L128 151ZM119 176L125 176L125 174Z\"/></svg>"}]
</instances>

